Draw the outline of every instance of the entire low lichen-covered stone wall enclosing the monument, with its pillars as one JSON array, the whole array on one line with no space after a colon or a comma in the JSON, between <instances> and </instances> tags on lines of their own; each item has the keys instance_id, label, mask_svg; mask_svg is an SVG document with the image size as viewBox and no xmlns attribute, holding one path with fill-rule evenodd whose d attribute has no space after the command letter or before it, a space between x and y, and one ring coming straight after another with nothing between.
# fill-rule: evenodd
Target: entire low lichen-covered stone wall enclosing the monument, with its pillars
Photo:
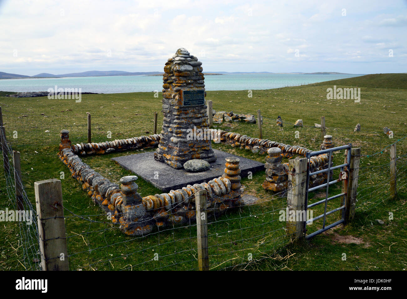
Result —
<instances>
[{"instance_id":1,"label":"entire low lichen-covered stone wall enclosing the monument, with its pillars","mask_svg":"<svg viewBox=\"0 0 407 299\"><path fill-rule=\"evenodd\" d=\"M312 150L298 145L252 138L234 132L221 131L219 133L218 130L217 134L214 133L212 136L219 138L221 143L231 147L239 147L260 154L267 153L265 159L266 179L263 188L274 192L287 189L288 163L282 163L281 158L292 158L294 155L306 156L307 152L312 152ZM331 139L332 136L326 136L322 147L335 146ZM82 189L88 193L94 203L99 204L108 215L111 215L112 222L120 224L120 230L127 235L146 235L155 228L164 229L166 226L171 227L195 221L195 192L200 189L206 189L208 192L208 217L221 215L228 208L243 205L241 200L243 188L239 175L238 158L226 158L225 174L219 178L193 186L188 185L168 193L141 197L137 193L136 176L121 178L120 185L118 185L91 169L78 156L78 154L103 154L109 149L129 150L156 147L159 140L160 135L155 134L105 143L72 145L68 130L62 130L59 157L70 169L72 177L81 182ZM327 154L311 157L310 171L325 169L328 166L328 158ZM322 184L327 175L327 173L322 173L311 176L310 185ZM332 176L332 171L330 175Z\"/></svg>"}]
</instances>

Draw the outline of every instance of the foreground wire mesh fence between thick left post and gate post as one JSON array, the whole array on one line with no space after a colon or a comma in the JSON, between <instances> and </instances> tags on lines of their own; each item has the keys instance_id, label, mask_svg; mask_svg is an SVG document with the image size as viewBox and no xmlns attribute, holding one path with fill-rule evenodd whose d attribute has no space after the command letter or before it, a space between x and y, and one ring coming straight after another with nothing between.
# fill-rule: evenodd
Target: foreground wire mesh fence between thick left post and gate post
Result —
<instances>
[{"instance_id":1,"label":"foreground wire mesh fence between thick left post and gate post","mask_svg":"<svg viewBox=\"0 0 407 299\"><path fill-rule=\"evenodd\" d=\"M210 200L221 204L225 198ZM206 209L209 268L239 268L288 244L290 236L281 218L286 206L285 193L279 193L245 206L225 207L223 215L217 215L218 209ZM197 270L195 208L186 208L191 213L184 224L139 237L125 236L120 224L110 222L106 214L76 215L65 208L71 270Z\"/></svg>"}]
</instances>

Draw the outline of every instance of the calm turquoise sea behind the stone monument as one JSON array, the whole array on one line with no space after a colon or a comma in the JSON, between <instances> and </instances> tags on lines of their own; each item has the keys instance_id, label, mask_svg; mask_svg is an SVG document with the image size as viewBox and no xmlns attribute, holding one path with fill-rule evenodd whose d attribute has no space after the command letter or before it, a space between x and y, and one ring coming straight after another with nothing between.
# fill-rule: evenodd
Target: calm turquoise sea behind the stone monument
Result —
<instances>
[{"instance_id":1,"label":"calm turquoise sea behind the stone monument","mask_svg":"<svg viewBox=\"0 0 407 299\"><path fill-rule=\"evenodd\" d=\"M336 79L361 76L337 74L242 74L242 75L206 75L206 90L256 90L284 86L298 86ZM1 79L2 91L47 91L48 88L82 88L82 92L120 93L151 92L162 90L162 76L112 76L112 77L70 77L70 78L33 78Z\"/></svg>"}]
</instances>

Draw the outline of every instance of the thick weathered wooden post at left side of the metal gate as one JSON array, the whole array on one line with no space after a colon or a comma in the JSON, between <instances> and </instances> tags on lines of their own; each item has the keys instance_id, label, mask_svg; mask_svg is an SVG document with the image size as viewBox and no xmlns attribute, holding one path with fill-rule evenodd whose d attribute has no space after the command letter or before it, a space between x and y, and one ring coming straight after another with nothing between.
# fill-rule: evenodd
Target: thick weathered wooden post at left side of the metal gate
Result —
<instances>
[{"instance_id":1,"label":"thick weathered wooden post at left side of the metal gate","mask_svg":"<svg viewBox=\"0 0 407 299\"><path fill-rule=\"evenodd\" d=\"M286 219L287 235L294 237L303 237L306 222L305 207L305 188L306 188L306 169L307 158L292 159L288 163L288 191L287 191L287 209L290 215L300 215L302 219ZM286 216L287 217L287 216ZM301 221L300 221L301 220Z\"/></svg>"}]
</instances>

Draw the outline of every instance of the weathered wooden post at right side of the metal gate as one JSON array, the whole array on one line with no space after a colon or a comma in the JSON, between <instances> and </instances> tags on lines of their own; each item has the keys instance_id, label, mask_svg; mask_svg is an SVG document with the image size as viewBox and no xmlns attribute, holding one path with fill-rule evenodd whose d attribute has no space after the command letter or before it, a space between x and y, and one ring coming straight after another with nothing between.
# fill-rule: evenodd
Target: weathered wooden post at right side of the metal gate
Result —
<instances>
[{"instance_id":1,"label":"weathered wooden post at right side of the metal gate","mask_svg":"<svg viewBox=\"0 0 407 299\"><path fill-rule=\"evenodd\" d=\"M350 151L350 167L348 174L348 182L346 180L342 183L342 192L346 192L346 202L345 202L345 223L351 220L355 214L356 209L356 196L357 196L357 185L359 178L359 163L360 163L361 148L352 148ZM348 149L345 150L345 163L348 157Z\"/></svg>"}]
</instances>

